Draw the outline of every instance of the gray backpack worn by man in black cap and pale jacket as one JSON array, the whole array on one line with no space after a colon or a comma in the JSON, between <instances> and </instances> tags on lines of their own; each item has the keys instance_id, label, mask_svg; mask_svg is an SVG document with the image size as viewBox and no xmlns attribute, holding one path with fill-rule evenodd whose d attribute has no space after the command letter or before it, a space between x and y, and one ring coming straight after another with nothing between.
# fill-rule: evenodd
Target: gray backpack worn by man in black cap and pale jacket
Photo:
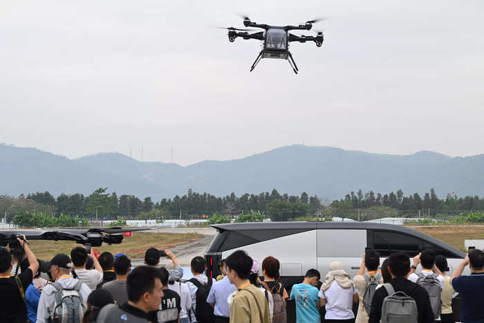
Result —
<instances>
[{"instance_id":1,"label":"gray backpack worn by man in black cap and pale jacket","mask_svg":"<svg viewBox=\"0 0 484 323\"><path fill-rule=\"evenodd\" d=\"M75 284L74 288L64 288L59 282L52 284L55 288L54 311L50 315L51 322L80 323L86 307L82 302L82 282Z\"/></svg>"}]
</instances>

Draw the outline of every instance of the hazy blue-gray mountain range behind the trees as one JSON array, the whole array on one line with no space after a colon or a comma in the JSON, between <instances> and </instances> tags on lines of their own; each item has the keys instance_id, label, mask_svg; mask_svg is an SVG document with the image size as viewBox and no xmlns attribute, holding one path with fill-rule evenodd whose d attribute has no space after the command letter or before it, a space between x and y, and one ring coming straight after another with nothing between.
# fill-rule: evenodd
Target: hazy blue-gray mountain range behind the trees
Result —
<instances>
[{"instance_id":1,"label":"hazy blue-gray mountain range behind the trees","mask_svg":"<svg viewBox=\"0 0 484 323\"><path fill-rule=\"evenodd\" d=\"M369 154L332 147L292 145L246 158L206 160L186 167L140 162L117 153L78 159L34 148L0 145L0 194L48 190L91 194L98 187L153 200L194 192L225 196L256 194L276 188L279 193L317 194L339 199L362 189L387 193L399 188L405 195L428 192L439 196L484 196L484 155L449 157L431 151L408 156Z\"/></svg>"}]
</instances>

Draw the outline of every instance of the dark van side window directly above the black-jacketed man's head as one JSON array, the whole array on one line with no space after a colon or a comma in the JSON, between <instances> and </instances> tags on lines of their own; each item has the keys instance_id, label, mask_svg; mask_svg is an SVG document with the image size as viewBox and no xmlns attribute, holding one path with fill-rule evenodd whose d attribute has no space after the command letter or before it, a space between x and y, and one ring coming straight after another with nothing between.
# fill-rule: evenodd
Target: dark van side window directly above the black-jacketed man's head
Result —
<instances>
[{"instance_id":1,"label":"dark van side window directly above the black-jacketed man's head","mask_svg":"<svg viewBox=\"0 0 484 323\"><path fill-rule=\"evenodd\" d=\"M405 252L410 257L420 252L420 239L408 234L391 231L373 231L373 248L382 257L388 257L392 252Z\"/></svg>"}]
</instances>

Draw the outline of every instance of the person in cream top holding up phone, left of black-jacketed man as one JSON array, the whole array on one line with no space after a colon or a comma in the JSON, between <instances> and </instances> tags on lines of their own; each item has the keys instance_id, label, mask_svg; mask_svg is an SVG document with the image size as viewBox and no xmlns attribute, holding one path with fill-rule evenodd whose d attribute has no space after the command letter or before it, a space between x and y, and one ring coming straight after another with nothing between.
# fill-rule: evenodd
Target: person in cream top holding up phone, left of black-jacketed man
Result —
<instances>
[{"instance_id":1,"label":"person in cream top holding up phone, left of black-jacketed man","mask_svg":"<svg viewBox=\"0 0 484 323\"><path fill-rule=\"evenodd\" d=\"M378 273L378 266L380 266L380 254L375 250L371 250L368 255L363 255L362 264L360 270L355 275L353 282L355 283L356 289L358 290L358 297L360 299L360 304L358 304L358 313L356 315L356 323L366 323L368 322L368 313L364 308L363 298L366 291L366 286L372 282L373 284L380 284L380 278L382 274ZM366 269L366 273L365 273Z\"/></svg>"}]
</instances>

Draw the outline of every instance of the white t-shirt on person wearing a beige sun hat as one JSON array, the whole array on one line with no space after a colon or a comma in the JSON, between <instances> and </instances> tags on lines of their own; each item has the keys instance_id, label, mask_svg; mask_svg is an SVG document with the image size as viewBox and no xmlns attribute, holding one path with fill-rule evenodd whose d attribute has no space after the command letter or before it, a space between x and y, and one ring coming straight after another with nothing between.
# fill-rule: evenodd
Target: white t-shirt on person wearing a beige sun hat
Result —
<instances>
[{"instance_id":1,"label":"white t-shirt on person wearing a beige sun hat","mask_svg":"<svg viewBox=\"0 0 484 323\"><path fill-rule=\"evenodd\" d=\"M356 287L344 289L336 281L327 290L319 290L319 298L326 299L326 320L351 320L353 313L353 295L357 294Z\"/></svg>"}]
</instances>

